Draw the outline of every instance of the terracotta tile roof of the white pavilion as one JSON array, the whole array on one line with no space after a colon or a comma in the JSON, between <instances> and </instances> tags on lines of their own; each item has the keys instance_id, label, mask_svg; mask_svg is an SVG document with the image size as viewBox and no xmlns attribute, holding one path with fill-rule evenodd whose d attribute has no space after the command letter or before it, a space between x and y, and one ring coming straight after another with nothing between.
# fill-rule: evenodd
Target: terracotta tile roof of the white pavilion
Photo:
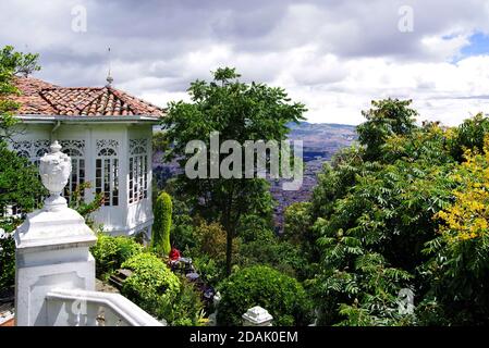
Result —
<instances>
[{"instance_id":1,"label":"terracotta tile roof of the white pavilion","mask_svg":"<svg viewBox=\"0 0 489 348\"><path fill-rule=\"evenodd\" d=\"M19 114L84 116L161 116L164 111L112 87L59 87L33 77L17 77Z\"/></svg>"}]
</instances>

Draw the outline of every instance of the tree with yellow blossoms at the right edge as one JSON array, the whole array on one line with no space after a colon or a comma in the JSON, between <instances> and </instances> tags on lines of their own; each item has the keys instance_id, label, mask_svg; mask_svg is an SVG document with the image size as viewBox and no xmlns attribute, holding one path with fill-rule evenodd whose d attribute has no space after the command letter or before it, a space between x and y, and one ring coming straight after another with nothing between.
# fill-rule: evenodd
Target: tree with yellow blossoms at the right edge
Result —
<instances>
[{"instance_id":1,"label":"tree with yellow blossoms at the right edge","mask_svg":"<svg viewBox=\"0 0 489 348\"><path fill-rule=\"evenodd\" d=\"M474 144L452 174L455 199L433 216L440 236L426 244L431 259L421 269L430 282L426 301L456 325L489 323L489 135L485 138L484 152Z\"/></svg>"}]
</instances>

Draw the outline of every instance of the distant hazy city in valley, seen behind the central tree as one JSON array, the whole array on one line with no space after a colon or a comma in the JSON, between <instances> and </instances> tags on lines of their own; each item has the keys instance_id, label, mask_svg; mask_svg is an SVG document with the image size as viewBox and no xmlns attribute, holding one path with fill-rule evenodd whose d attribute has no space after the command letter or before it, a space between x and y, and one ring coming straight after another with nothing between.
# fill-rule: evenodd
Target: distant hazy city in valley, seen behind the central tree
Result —
<instances>
[{"instance_id":1,"label":"distant hazy city in valley, seen behind the central tree","mask_svg":"<svg viewBox=\"0 0 489 348\"><path fill-rule=\"evenodd\" d=\"M322 164L331 160L338 150L351 146L357 139L355 126L352 125L301 122L291 124L290 128L289 139L303 141L304 178L301 189L293 191L282 189L282 179L270 179L270 190L277 200L274 224L278 232L283 228L284 209L294 202L306 201L310 198ZM160 151L154 153L152 170L159 185L181 173L176 161L162 163Z\"/></svg>"}]
</instances>

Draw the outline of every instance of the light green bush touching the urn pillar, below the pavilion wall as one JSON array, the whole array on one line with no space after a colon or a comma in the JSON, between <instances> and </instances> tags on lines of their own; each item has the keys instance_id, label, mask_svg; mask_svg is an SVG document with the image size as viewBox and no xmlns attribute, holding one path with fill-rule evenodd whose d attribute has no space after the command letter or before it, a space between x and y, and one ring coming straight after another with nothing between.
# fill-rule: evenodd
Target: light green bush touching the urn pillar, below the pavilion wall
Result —
<instances>
[{"instance_id":1,"label":"light green bush touching the urn pillar, below the pavilion wall","mask_svg":"<svg viewBox=\"0 0 489 348\"><path fill-rule=\"evenodd\" d=\"M90 249L96 261L98 276L120 269L124 261L142 253L144 247L132 238L112 237L102 233L97 235L97 244Z\"/></svg>"}]
</instances>

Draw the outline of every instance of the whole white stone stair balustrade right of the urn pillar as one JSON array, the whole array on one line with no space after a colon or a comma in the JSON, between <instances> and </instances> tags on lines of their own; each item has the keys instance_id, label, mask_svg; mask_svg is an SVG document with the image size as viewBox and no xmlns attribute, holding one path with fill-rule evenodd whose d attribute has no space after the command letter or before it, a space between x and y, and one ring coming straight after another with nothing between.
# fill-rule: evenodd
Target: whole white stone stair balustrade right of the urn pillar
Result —
<instances>
[{"instance_id":1,"label":"whole white stone stair balustrade right of the urn pillar","mask_svg":"<svg viewBox=\"0 0 489 348\"><path fill-rule=\"evenodd\" d=\"M164 326L119 294L52 289L46 295L50 326Z\"/></svg>"}]
</instances>

